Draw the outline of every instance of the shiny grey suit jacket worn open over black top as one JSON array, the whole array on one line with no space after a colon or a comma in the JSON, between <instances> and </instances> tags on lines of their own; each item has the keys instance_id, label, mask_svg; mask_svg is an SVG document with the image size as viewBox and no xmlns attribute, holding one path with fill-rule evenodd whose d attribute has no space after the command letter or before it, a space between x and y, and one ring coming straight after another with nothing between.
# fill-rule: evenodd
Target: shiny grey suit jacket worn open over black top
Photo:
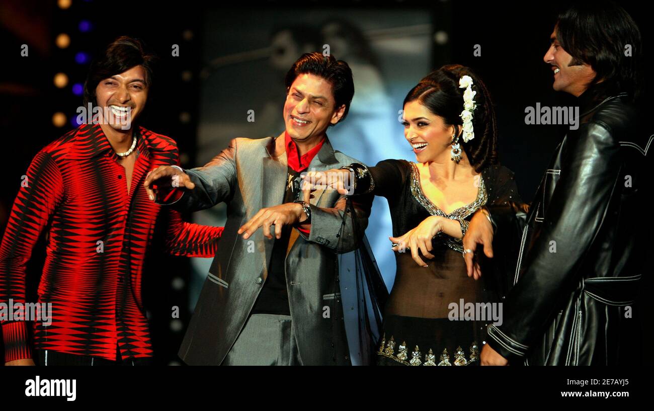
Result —
<instances>
[{"instance_id":1,"label":"shiny grey suit jacket worn open over black top","mask_svg":"<svg viewBox=\"0 0 654 411\"><path fill-rule=\"evenodd\" d=\"M334 151L326 139L309 170L329 170L353 162L358 161ZM196 188L185 192L176 207L197 211L226 202L228 208L218 252L179 356L189 365L220 365L267 278L274 238L267 239L259 229L243 240L237 230L260 209L283 201L287 175L284 135L233 139L230 147L207 165L185 172ZM373 198L352 198L355 228L352 213L343 218L345 196L336 190L317 190L313 195L311 232L292 236L296 241L290 244L285 262L295 338L304 365L349 365L337 254L357 247L368 225Z\"/></svg>"}]
</instances>

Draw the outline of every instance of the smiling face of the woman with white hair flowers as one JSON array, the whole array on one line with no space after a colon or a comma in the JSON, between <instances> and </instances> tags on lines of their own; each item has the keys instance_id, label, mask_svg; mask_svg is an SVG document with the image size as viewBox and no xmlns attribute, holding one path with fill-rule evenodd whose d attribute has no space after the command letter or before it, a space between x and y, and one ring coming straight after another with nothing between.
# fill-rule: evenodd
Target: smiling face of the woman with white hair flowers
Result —
<instances>
[{"instance_id":1,"label":"smiling face of the woman with white hair flowers","mask_svg":"<svg viewBox=\"0 0 654 411\"><path fill-rule=\"evenodd\" d=\"M404 105L404 137L409 141L417 162L438 162L450 160L452 135L455 126L446 126L437 116L418 100Z\"/></svg>"}]
</instances>

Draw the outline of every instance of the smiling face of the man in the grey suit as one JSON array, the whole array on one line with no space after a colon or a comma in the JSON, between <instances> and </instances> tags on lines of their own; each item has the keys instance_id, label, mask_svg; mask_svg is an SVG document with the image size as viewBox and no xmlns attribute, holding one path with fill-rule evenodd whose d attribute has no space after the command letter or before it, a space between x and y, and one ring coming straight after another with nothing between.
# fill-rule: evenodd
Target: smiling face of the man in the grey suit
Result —
<instances>
[{"instance_id":1,"label":"smiling face of the man in the grey suit","mask_svg":"<svg viewBox=\"0 0 654 411\"><path fill-rule=\"evenodd\" d=\"M345 113L345 105L336 107L332 84L322 77L303 73L288 89L284 103L286 132L296 141L309 143L321 139L330 124Z\"/></svg>"}]
</instances>

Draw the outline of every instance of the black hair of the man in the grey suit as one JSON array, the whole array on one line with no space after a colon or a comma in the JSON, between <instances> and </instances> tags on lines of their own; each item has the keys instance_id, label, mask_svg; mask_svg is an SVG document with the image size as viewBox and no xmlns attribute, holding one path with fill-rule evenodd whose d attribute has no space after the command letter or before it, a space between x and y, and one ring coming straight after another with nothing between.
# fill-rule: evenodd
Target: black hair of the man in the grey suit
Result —
<instances>
[{"instance_id":1,"label":"black hair of the man in the grey suit","mask_svg":"<svg viewBox=\"0 0 654 411\"><path fill-rule=\"evenodd\" d=\"M336 107L345 104L345 112L339 122L345 120L354 97L354 80L350 66L343 60L336 60L332 55L323 56L318 52L302 54L286 73L284 79L286 92L290 90L290 86L298 78L298 75L305 73L322 77L332 84L332 95L336 101ZM330 126L333 125L330 124Z\"/></svg>"}]
</instances>

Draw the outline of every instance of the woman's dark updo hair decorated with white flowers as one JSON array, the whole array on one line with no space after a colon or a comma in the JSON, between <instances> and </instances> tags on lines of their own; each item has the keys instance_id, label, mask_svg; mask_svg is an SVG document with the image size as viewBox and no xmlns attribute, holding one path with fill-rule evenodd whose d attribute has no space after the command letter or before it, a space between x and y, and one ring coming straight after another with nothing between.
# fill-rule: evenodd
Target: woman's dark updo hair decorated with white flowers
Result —
<instances>
[{"instance_id":1,"label":"woman's dark updo hair decorated with white flowers","mask_svg":"<svg viewBox=\"0 0 654 411\"><path fill-rule=\"evenodd\" d=\"M463 127L460 114L463 111L463 92L466 90L458 86L458 80L464 75L472 78L472 90L477 92L474 98L476 107L472 113L475 137L466 143L461 135L458 142L466 152L470 165L479 173L489 164L498 162L497 123L490 93L470 68L451 64L432 71L409 91L402 107L417 100L432 114L443 118L445 126L456 126L458 135Z\"/></svg>"}]
</instances>

